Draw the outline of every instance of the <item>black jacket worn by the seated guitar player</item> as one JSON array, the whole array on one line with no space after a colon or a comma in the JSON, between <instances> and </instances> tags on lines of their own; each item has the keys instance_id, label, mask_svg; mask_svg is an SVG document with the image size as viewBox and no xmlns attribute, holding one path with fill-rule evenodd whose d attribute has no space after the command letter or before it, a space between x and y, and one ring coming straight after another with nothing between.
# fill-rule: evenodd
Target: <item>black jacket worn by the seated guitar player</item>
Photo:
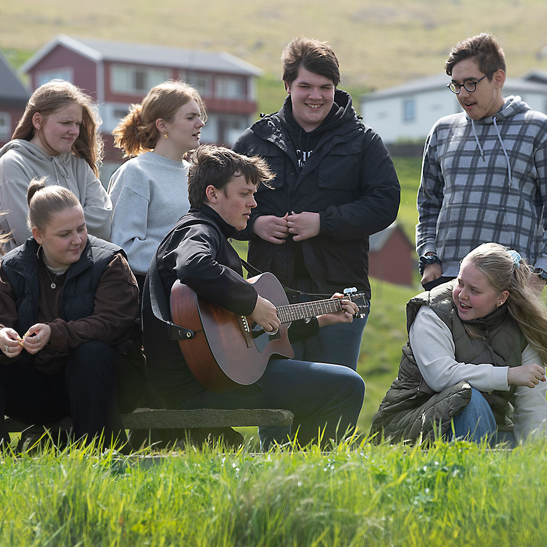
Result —
<instances>
[{"instance_id":1,"label":"black jacket worn by the seated guitar player","mask_svg":"<svg viewBox=\"0 0 547 547\"><path fill-rule=\"evenodd\" d=\"M241 260L228 241L236 233L234 226L224 222L211 207L190 209L160 243L153 258L167 302L173 283L179 279L214 304L234 313L251 315L257 292L243 279ZM167 408L178 408L205 388L188 368L178 342L169 339L166 325L154 317L148 282L147 276L142 319L150 383ZM299 327L300 336L317 334L317 321Z\"/></svg>"}]
</instances>

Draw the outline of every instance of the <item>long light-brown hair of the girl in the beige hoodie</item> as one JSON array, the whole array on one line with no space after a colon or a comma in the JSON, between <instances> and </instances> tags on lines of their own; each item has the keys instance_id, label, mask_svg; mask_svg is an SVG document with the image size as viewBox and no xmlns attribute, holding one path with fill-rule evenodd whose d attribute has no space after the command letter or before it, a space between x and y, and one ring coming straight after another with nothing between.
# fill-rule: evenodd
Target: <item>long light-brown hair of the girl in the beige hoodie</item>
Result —
<instances>
[{"instance_id":1,"label":"long light-brown hair of the girl in the beige hoodie","mask_svg":"<svg viewBox=\"0 0 547 547\"><path fill-rule=\"evenodd\" d=\"M49 114L72 103L82 107L82 125L80 125L80 133L72 145L71 152L88 162L95 176L98 177L97 165L102 161L104 146L99 132L101 118L92 98L70 82L51 80L51 82L40 85L28 100L25 112L11 138L30 141L36 131L32 123L34 114L38 112L47 118Z\"/></svg>"}]
</instances>

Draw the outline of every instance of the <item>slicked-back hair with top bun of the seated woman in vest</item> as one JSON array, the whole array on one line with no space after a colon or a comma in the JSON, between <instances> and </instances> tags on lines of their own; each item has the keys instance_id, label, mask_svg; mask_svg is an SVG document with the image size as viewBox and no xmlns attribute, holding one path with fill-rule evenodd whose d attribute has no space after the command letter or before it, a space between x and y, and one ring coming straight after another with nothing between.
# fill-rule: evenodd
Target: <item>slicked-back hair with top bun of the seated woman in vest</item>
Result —
<instances>
[{"instance_id":1,"label":"slicked-back hair with top bun of the seated woman in vest","mask_svg":"<svg viewBox=\"0 0 547 547\"><path fill-rule=\"evenodd\" d=\"M45 185L46 177L35 177L27 190L27 226L32 230L36 226L44 231L57 213L73 207L81 207L78 198L67 188L51 184Z\"/></svg>"}]
</instances>

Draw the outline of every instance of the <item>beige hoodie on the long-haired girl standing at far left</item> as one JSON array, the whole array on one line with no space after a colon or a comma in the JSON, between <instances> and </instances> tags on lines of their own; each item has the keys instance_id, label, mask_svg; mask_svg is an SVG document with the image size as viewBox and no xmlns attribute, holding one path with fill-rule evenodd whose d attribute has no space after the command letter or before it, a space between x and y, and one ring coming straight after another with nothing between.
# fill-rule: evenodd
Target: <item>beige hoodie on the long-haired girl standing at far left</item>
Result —
<instances>
[{"instance_id":1,"label":"beige hoodie on the long-haired girl standing at far left","mask_svg":"<svg viewBox=\"0 0 547 547\"><path fill-rule=\"evenodd\" d=\"M101 181L87 162L71 153L50 156L31 142L15 139L0 148L0 233L11 232L5 248L22 245L27 228L27 188L34 177L47 177L45 184L59 184L71 190L82 203L91 235L110 238L112 203Z\"/></svg>"}]
</instances>

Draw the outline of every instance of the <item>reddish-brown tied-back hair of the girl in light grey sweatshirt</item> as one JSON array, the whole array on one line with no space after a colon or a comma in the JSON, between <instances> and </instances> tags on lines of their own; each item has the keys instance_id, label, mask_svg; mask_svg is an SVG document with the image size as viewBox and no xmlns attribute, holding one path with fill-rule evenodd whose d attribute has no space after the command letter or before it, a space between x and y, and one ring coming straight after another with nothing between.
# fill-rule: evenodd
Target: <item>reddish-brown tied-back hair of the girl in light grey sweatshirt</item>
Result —
<instances>
[{"instance_id":1,"label":"reddish-brown tied-back hair of the girl in light grey sweatshirt","mask_svg":"<svg viewBox=\"0 0 547 547\"><path fill-rule=\"evenodd\" d=\"M200 118L205 122L205 104L191 85L168 80L154 86L142 103L131 104L129 114L112 131L114 146L123 150L124 158L134 158L153 150L160 136L156 120L161 118L171 121L177 110L193 99L200 109Z\"/></svg>"}]
</instances>

